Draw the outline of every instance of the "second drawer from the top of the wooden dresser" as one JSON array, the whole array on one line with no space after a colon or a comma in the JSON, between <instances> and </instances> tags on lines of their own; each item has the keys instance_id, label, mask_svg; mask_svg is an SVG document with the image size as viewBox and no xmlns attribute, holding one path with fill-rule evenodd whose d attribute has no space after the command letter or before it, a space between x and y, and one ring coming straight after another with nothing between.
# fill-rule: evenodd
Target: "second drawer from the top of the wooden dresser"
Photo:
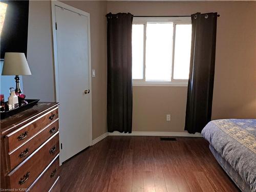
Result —
<instances>
[{"instance_id":1,"label":"second drawer from the top of the wooden dresser","mask_svg":"<svg viewBox=\"0 0 256 192\"><path fill-rule=\"evenodd\" d=\"M49 139L52 135L58 132L59 122L55 120L40 132L36 133L34 137L30 138L22 146L16 148L7 155L7 170L12 170L19 163L24 161L31 153L33 153L42 143Z\"/></svg>"}]
</instances>

